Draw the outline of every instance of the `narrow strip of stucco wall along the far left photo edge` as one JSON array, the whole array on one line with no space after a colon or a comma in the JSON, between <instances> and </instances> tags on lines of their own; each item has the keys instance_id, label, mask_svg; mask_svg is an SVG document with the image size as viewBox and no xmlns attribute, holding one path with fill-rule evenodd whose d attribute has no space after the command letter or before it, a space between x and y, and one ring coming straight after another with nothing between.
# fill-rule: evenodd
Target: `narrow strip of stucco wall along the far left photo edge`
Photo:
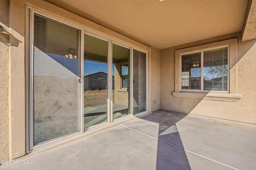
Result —
<instances>
[{"instance_id":1,"label":"narrow strip of stucco wall along the far left photo edge","mask_svg":"<svg viewBox=\"0 0 256 170\"><path fill-rule=\"evenodd\" d=\"M0 160L9 159L8 64L9 64L9 2L0 0Z\"/></svg>"}]
</instances>

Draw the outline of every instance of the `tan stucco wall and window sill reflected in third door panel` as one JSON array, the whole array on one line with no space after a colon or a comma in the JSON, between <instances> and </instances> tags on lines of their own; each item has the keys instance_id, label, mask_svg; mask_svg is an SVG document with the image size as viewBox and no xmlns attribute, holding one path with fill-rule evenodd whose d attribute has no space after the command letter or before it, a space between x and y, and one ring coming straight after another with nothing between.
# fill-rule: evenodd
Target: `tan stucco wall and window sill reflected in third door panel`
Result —
<instances>
[{"instance_id":1,"label":"tan stucco wall and window sill reflected in third door panel","mask_svg":"<svg viewBox=\"0 0 256 170\"><path fill-rule=\"evenodd\" d=\"M128 96L128 91L127 88L121 88L121 64L115 64L114 66L114 75L115 75L115 80L114 80L114 101L116 103L124 103L128 104L129 102L129 96ZM129 87L128 87L129 88Z\"/></svg>"}]
</instances>

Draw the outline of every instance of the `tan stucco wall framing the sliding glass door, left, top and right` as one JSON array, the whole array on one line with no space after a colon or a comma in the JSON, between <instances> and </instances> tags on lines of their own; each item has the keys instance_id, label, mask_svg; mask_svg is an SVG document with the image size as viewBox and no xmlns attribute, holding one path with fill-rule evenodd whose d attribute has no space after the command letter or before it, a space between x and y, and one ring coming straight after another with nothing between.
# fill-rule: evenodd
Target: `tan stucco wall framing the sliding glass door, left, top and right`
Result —
<instances>
[{"instance_id":1,"label":"tan stucco wall framing the sliding glass door, left, top and right","mask_svg":"<svg viewBox=\"0 0 256 170\"><path fill-rule=\"evenodd\" d=\"M8 0L1 0L1 17L5 21L2 26L10 33L10 47L8 44L3 43L1 34L1 148L0 148L0 158L5 160L12 160L26 154L26 111L28 111L28 102L26 102L26 86L28 86L28 81L26 81L27 69L28 69L28 59L25 56L26 52L26 24L25 24L25 6L29 5L33 8L37 8L44 12L56 15L70 23L78 25L88 30L101 33L101 35L106 36L110 39L118 39L118 41L123 41L136 46L138 49L147 50L148 56L148 111L151 111L152 105L152 90L151 90L151 48L138 43L128 37L111 31L105 27L102 27L92 21L86 20L80 16L72 14L62 8L54 6L44 0L10 0L10 8L8 17ZM2 9L3 8L3 9ZM4 14L6 12L6 14ZM3 13L3 14L2 14ZM8 23L9 18L9 23ZM9 25L8 25L9 24ZM160 63L160 51L154 49L152 54L156 57L156 63ZM160 64L154 66L156 72L153 73L156 80L159 79ZM9 72L9 74L8 74ZM159 79L160 80L160 79ZM153 81L153 80L152 80ZM8 83L9 82L9 83ZM153 99L156 99L156 105L154 109L160 108L160 84L159 81L156 84L152 84L154 88L158 91L154 91ZM8 127L8 122L10 126Z\"/></svg>"}]
</instances>

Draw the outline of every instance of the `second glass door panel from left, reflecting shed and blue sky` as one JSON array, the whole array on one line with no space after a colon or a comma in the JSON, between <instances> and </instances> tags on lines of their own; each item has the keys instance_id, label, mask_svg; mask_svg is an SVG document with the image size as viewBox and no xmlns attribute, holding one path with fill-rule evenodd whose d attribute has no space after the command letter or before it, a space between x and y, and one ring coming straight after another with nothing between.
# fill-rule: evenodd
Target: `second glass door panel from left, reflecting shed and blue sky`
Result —
<instances>
[{"instance_id":1,"label":"second glass door panel from left, reflecting shed and blue sky","mask_svg":"<svg viewBox=\"0 0 256 170\"><path fill-rule=\"evenodd\" d=\"M84 34L84 128L108 121L108 41Z\"/></svg>"}]
</instances>

